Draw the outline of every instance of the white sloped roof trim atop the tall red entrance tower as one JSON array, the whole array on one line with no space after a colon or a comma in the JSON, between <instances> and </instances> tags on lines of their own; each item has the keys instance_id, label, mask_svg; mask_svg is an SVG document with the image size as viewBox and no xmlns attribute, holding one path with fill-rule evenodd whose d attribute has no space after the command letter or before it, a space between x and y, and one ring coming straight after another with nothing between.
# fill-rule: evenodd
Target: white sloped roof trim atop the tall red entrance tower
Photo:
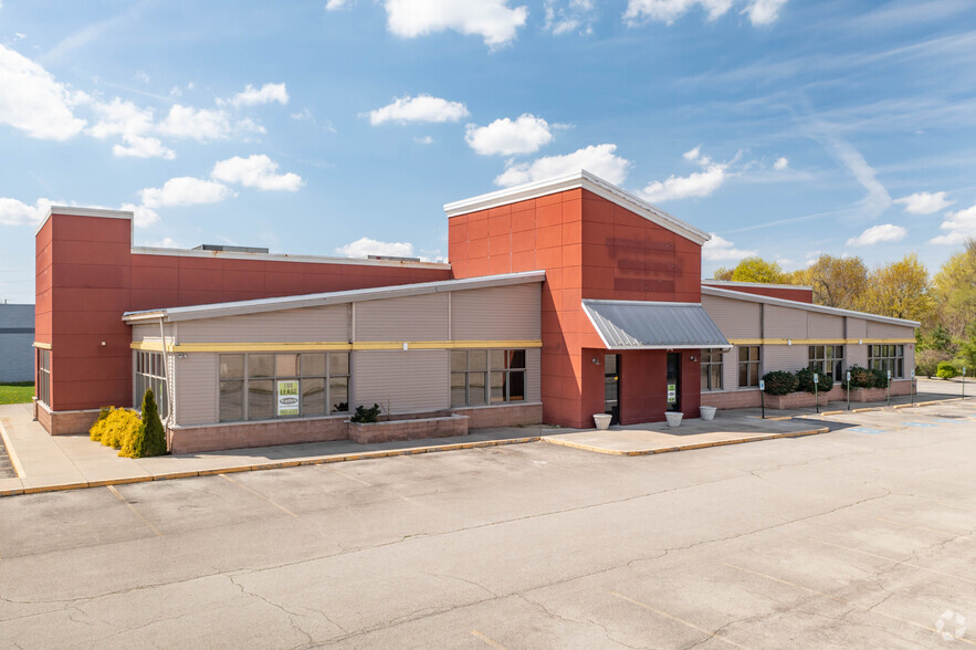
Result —
<instances>
[{"instance_id":1,"label":"white sloped roof trim atop the tall red entrance tower","mask_svg":"<svg viewBox=\"0 0 976 650\"><path fill-rule=\"evenodd\" d=\"M595 195L622 208L627 208L648 221L657 223L658 226L680 234L685 239L690 239L697 244L703 244L712 239L712 235L707 232L678 219L657 206L652 206L643 199L585 169L580 169L574 174L556 176L545 180L528 182L503 190L479 195L476 197L471 197L470 199L445 203L444 212L447 213L448 219L451 219L452 217L460 217L461 214L468 214L479 210L496 208L577 188L589 190Z\"/></svg>"}]
</instances>

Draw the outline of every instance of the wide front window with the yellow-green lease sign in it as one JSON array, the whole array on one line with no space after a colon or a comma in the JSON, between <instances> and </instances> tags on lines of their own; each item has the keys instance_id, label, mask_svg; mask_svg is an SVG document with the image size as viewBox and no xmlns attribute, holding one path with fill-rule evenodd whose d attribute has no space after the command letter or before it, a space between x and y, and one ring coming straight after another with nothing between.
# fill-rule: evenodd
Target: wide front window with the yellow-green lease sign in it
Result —
<instances>
[{"instance_id":1,"label":"wide front window with the yellow-green lease sign in it","mask_svg":"<svg viewBox=\"0 0 976 650\"><path fill-rule=\"evenodd\" d=\"M349 353L220 355L220 421L349 410Z\"/></svg>"}]
</instances>

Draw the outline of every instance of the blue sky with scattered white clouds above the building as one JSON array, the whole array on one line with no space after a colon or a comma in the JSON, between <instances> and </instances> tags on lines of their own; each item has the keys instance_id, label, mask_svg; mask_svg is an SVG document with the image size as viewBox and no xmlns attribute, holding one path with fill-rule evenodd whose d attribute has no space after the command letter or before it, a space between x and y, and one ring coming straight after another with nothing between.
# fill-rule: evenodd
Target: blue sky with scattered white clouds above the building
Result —
<instances>
[{"instance_id":1,"label":"blue sky with scattered white clouds above the building","mask_svg":"<svg viewBox=\"0 0 976 650\"><path fill-rule=\"evenodd\" d=\"M972 0L0 0L0 300L46 206L141 245L447 255L445 202L584 167L802 268L976 237Z\"/></svg>"}]
</instances>

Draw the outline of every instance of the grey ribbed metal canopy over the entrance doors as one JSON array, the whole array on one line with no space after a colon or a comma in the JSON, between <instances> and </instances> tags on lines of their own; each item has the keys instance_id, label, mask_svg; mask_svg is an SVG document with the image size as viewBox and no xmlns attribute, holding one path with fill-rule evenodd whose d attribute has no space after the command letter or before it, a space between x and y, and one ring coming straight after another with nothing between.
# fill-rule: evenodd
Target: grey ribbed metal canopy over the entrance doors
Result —
<instances>
[{"instance_id":1,"label":"grey ribbed metal canopy over the entrance doors","mask_svg":"<svg viewBox=\"0 0 976 650\"><path fill-rule=\"evenodd\" d=\"M695 349L732 345L699 303L584 300L607 349Z\"/></svg>"}]
</instances>

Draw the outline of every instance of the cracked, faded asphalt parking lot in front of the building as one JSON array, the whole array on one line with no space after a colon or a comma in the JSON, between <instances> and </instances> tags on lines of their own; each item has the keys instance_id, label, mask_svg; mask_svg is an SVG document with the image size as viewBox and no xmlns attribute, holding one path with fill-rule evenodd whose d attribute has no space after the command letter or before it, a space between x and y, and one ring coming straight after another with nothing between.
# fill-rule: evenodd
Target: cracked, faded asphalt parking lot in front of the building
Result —
<instances>
[{"instance_id":1,"label":"cracked, faded asphalt parking lot in front of the building","mask_svg":"<svg viewBox=\"0 0 976 650\"><path fill-rule=\"evenodd\" d=\"M0 646L976 646L976 403L825 420L7 497Z\"/></svg>"}]
</instances>

